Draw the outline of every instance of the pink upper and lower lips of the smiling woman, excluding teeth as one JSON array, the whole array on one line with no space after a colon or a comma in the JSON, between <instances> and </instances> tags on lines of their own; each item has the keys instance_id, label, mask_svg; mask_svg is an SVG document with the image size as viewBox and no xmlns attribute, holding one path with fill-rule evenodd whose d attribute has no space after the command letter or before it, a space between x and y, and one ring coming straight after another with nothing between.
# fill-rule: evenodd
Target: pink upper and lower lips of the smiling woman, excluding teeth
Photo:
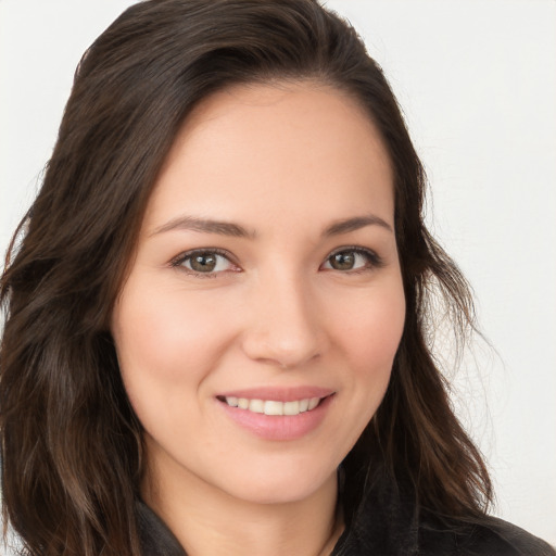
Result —
<instances>
[{"instance_id":1,"label":"pink upper and lower lips of the smiling woman, excluding teeth","mask_svg":"<svg viewBox=\"0 0 556 556\"><path fill-rule=\"evenodd\" d=\"M320 395L317 391L325 393ZM265 415L231 407L225 401L218 400L224 395L277 402L292 402L305 397L323 397L323 400L311 412L300 413L299 415ZM219 394L216 403L230 420L255 437L271 441L291 441L301 439L317 429L328 414L334 397L334 392L327 389L288 389L279 392L276 389L254 389Z\"/></svg>"}]
</instances>

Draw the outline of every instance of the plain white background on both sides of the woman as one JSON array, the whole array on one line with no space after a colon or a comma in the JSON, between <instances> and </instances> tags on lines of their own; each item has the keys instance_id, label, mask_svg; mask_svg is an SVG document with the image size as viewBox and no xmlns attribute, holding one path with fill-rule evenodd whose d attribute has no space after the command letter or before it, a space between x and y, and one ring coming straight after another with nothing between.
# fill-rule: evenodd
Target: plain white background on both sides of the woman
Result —
<instances>
[{"instance_id":1,"label":"plain white background on both sides of the woman","mask_svg":"<svg viewBox=\"0 0 556 556\"><path fill-rule=\"evenodd\" d=\"M0 250L40 184L74 68L129 0L0 0ZM382 65L480 343L454 402L494 513L556 544L556 1L329 0Z\"/></svg>"}]
</instances>

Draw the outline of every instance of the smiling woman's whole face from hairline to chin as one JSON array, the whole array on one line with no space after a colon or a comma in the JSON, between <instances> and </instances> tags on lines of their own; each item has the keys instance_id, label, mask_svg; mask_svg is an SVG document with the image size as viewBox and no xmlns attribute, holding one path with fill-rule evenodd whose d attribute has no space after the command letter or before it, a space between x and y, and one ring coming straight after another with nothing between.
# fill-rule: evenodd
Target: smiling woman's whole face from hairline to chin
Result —
<instances>
[{"instance_id":1,"label":"smiling woman's whole face from hairline to chin","mask_svg":"<svg viewBox=\"0 0 556 556\"><path fill-rule=\"evenodd\" d=\"M242 86L195 109L112 318L150 472L262 503L334 476L402 336L393 218L387 152L342 92Z\"/></svg>"}]
</instances>

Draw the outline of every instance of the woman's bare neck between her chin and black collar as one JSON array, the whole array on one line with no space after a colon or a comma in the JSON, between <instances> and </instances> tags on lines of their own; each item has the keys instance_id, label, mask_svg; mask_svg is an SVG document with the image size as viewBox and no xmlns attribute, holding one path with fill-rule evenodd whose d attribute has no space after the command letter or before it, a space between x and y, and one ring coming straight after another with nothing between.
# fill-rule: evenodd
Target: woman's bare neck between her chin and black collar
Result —
<instances>
[{"instance_id":1,"label":"woman's bare neck between her chin and black collar","mask_svg":"<svg viewBox=\"0 0 556 556\"><path fill-rule=\"evenodd\" d=\"M164 520L188 556L329 555L342 532L336 473L311 495L261 504L238 500L188 472L150 468L144 502Z\"/></svg>"}]
</instances>

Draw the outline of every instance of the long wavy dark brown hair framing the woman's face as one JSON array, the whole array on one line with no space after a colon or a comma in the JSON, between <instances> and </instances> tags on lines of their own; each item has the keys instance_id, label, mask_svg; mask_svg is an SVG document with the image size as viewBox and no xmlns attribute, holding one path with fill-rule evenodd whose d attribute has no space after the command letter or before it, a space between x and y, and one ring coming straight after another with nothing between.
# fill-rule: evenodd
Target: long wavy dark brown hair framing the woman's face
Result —
<instances>
[{"instance_id":1,"label":"long wavy dark brown hair framing the woman's face","mask_svg":"<svg viewBox=\"0 0 556 556\"><path fill-rule=\"evenodd\" d=\"M349 92L379 129L395 175L405 330L346 479L380 469L439 515L482 515L489 476L426 336L434 291L457 337L472 327L472 302L425 228L424 169L380 67L355 30L314 0L151 0L124 12L84 55L1 279L3 516L29 554L140 553L142 433L109 331L112 307L153 184L193 106L235 84L283 79Z\"/></svg>"}]
</instances>

